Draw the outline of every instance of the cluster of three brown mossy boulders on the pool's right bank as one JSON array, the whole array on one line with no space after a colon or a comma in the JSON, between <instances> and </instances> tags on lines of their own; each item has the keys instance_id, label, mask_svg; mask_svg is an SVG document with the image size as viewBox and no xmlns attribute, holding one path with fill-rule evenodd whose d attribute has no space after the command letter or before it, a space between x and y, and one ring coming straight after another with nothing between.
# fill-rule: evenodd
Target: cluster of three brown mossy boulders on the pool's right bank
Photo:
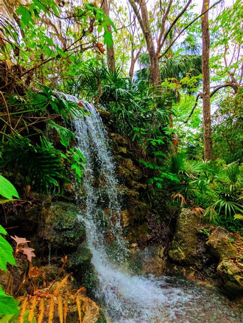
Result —
<instances>
[{"instance_id":1,"label":"cluster of three brown mossy boulders on the pool's right bank","mask_svg":"<svg viewBox=\"0 0 243 323\"><path fill-rule=\"evenodd\" d=\"M196 215L190 209L182 209L168 252L170 261L175 265L169 268L173 273L182 274L188 279L209 279L211 284L216 281L230 296L241 297L243 265L238 262L237 255L242 250L242 241L221 227L216 227L207 241L200 241ZM210 260L208 263L204 261L205 256ZM213 270L207 270L210 264Z\"/></svg>"}]
</instances>

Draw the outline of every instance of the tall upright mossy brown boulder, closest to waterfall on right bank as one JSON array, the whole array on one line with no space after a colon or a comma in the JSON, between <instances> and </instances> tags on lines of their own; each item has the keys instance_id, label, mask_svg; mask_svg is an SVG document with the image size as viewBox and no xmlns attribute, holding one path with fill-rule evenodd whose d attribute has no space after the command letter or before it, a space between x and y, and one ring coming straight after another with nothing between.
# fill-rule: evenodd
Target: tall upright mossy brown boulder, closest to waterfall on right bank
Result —
<instances>
[{"instance_id":1,"label":"tall upright mossy brown boulder, closest to waterfall on right bank","mask_svg":"<svg viewBox=\"0 0 243 323\"><path fill-rule=\"evenodd\" d=\"M179 264L193 264L197 254L198 219L195 213L183 208L178 215L176 229L169 251L170 258Z\"/></svg>"}]
</instances>

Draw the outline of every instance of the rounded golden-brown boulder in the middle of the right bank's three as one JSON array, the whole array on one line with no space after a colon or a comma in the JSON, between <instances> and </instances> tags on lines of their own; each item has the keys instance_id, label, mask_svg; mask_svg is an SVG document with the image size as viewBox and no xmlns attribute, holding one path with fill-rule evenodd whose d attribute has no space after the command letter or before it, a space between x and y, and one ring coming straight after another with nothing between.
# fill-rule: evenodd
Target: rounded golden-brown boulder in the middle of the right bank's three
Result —
<instances>
[{"instance_id":1,"label":"rounded golden-brown boulder in the middle of the right bank's three","mask_svg":"<svg viewBox=\"0 0 243 323\"><path fill-rule=\"evenodd\" d=\"M232 244L233 236L225 228L217 227L209 236L206 242L210 252L218 259L231 259L237 253L236 247Z\"/></svg>"}]
</instances>

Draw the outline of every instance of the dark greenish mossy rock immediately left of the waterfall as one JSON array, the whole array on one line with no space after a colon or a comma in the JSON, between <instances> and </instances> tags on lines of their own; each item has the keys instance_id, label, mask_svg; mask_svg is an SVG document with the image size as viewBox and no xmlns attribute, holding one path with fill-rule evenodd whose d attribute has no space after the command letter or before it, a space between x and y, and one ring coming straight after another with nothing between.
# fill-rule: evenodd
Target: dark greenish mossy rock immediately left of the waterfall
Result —
<instances>
[{"instance_id":1,"label":"dark greenish mossy rock immediately left of the waterfall","mask_svg":"<svg viewBox=\"0 0 243 323\"><path fill-rule=\"evenodd\" d=\"M78 207L69 202L51 205L50 246L51 252L62 250L71 253L85 240L85 227L77 218Z\"/></svg>"}]
</instances>

